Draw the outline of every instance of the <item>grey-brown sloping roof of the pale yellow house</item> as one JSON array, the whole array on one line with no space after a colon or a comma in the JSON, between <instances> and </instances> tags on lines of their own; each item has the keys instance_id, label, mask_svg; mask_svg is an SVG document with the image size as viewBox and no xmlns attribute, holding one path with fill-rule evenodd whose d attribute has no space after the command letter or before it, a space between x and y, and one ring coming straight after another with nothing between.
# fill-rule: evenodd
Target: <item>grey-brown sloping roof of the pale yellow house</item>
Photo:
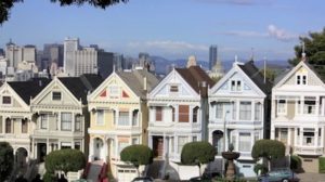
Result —
<instances>
[{"instance_id":1,"label":"grey-brown sloping roof of the pale yellow house","mask_svg":"<svg viewBox=\"0 0 325 182\"><path fill-rule=\"evenodd\" d=\"M155 75L151 74L146 69L117 72L116 74L140 98L145 98L146 93L150 92L159 81ZM146 78L146 90L144 90L144 78Z\"/></svg>"}]
</instances>

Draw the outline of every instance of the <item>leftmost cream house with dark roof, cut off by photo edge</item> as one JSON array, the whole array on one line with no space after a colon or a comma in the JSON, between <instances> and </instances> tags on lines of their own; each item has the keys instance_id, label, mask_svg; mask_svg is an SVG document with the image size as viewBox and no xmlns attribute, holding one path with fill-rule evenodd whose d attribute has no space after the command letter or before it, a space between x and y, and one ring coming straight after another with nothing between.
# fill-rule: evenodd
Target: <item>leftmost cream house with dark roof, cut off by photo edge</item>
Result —
<instances>
[{"instance_id":1,"label":"leftmost cream house with dark roof, cut off by photo edge","mask_svg":"<svg viewBox=\"0 0 325 182\"><path fill-rule=\"evenodd\" d=\"M35 98L50 81L4 82L0 88L0 141L9 142L14 154L23 158L16 161L26 165L34 159L31 135L36 127L30 112L30 99ZM23 159L23 160L22 160Z\"/></svg>"}]
</instances>

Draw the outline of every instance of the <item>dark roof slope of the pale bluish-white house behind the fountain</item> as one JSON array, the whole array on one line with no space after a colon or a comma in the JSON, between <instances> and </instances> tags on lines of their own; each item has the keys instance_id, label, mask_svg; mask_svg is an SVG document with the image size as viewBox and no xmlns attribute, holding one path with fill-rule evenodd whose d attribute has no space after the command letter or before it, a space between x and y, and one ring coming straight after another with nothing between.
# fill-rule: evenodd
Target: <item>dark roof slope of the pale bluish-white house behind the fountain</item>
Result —
<instances>
[{"instance_id":1,"label":"dark roof slope of the pale bluish-white house behind the fountain","mask_svg":"<svg viewBox=\"0 0 325 182\"><path fill-rule=\"evenodd\" d=\"M253 61L249 61L244 65L238 65L238 67L259 87L265 94L271 93L272 83L269 79L265 79L260 70L255 66Z\"/></svg>"}]
</instances>

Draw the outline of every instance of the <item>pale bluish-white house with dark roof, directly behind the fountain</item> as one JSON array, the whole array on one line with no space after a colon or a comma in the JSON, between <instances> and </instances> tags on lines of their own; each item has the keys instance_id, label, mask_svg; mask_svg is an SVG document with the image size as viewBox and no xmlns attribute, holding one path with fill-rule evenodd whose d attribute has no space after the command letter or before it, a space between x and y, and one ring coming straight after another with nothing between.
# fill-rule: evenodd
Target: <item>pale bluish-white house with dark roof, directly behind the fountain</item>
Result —
<instances>
[{"instance_id":1,"label":"pale bluish-white house with dark roof, directly behind the fountain","mask_svg":"<svg viewBox=\"0 0 325 182\"><path fill-rule=\"evenodd\" d=\"M225 76L209 90L208 135L217 148L216 160L221 161L221 153L232 143L234 151L240 153L236 167L244 177L256 176L251 148L255 141L268 138L271 88L250 61L246 64L234 62Z\"/></svg>"}]
</instances>

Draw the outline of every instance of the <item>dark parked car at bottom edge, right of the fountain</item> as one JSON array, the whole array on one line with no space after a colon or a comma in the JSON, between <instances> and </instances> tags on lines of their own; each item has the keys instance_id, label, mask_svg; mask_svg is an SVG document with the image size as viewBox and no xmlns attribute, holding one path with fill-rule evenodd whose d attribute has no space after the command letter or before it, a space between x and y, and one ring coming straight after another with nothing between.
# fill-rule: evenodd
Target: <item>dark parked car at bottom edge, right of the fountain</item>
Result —
<instances>
[{"instance_id":1,"label":"dark parked car at bottom edge, right of the fountain","mask_svg":"<svg viewBox=\"0 0 325 182\"><path fill-rule=\"evenodd\" d=\"M269 171L258 178L259 182L299 182L297 174L288 168L280 168Z\"/></svg>"}]
</instances>

